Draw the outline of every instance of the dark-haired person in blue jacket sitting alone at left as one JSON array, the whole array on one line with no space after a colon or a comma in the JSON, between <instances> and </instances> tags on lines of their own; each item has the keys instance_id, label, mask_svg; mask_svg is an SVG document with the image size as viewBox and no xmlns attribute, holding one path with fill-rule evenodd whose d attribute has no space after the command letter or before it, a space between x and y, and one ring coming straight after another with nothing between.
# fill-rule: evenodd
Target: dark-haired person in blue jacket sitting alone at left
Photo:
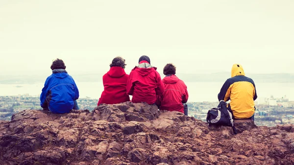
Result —
<instances>
[{"instance_id":1,"label":"dark-haired person in blue jacket sitting alone at left","mask_svg":"<svg viewBox=\"0 0 294 165\"><path fill-rule=\"evenodd\" d=\"M47 77L40 96L41 107L54 114L78 110L76 99L79 97L77 86L61 59L52 62L52 74Z\"/></svg>"}]
</instances>

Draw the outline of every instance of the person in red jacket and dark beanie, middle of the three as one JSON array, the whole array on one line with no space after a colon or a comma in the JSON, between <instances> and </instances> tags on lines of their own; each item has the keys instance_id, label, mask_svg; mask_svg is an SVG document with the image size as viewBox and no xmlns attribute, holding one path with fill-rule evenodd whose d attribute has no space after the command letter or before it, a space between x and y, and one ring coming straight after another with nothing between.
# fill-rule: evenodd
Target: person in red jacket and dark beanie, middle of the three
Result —
<instances>
[{"instance_id":1,"label":"person in red jacket and dark beanie, middle of the three","mask_svg":"<svg viewBox=\"0 0 294 165\"><path fill-rule=\"evenodd\" d=\"M139 65L132 69L126 83L127 94L133 95L132 102L155 104L156 95L162 94L163 90L160 74L150 65L148 56L141 56Z\"/></svg>"}]
</instances>

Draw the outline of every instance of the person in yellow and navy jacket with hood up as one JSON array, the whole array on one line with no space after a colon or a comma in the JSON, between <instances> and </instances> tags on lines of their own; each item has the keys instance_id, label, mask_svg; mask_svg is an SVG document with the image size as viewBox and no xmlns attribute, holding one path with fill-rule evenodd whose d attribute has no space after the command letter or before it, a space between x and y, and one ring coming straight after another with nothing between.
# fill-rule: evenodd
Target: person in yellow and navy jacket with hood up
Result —
<instances>
[{"instance_id":1,"label":"person in yellow and navy jacket with hood up","mask_svg":"<svg viewBox=\"0 0 294 165\"><path fill-rule=\"evenodd\" d=\"M233 65L231 78L227 79L221 87L218 98L219 101L231 100L229 105L235 119L254 120L256 88L253 80L245 76L240 64Z\"/></svg>"}]
</instances>

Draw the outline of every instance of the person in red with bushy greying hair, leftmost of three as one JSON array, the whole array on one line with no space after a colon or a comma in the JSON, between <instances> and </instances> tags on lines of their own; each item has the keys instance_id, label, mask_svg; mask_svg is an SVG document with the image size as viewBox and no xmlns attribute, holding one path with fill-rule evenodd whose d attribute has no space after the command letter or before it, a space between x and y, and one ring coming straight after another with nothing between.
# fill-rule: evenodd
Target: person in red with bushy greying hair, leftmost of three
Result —
<instances>
[{"instance_id":1,"label":"person in red with bushy greying hair, leftmost of three","mask_svg":"<svg viewBox=\"0 0 294 165\"><path fill-rule=\"evenodd\" d=\"M126 94L126 82L129 77L124 72L125 60L122 57L116 57L110 64L110 70L103 75L104 91L98 100L100 104L118 104L130 101L130 97Z\"/></svg>"}]
</instances>

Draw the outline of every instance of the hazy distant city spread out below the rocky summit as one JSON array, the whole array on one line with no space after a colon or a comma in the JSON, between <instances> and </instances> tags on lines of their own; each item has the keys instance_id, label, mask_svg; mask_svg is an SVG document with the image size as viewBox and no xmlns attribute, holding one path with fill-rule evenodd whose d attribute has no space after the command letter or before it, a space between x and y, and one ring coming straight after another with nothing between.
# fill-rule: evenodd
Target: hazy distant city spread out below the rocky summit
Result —
<instances>
[{"instance_id":1,"label":"hazy distant city spread out below the rocky summit","mask_svg":"<svg viewBox=\"0 0 294 165\"><path fill-rule=\"evenodd\" d=\"M17 96L0 96L0 120L10 120L12 115L23 110L41 110L40 96L19 94ZM98 99L79 98L80 109L92 111L97 107ZM208 110L218 105L218 102L188 102L189 116L206 121ZM276 124L294 124L294 101L285 96L274 98L260 97L255 101L255 124L259 126L275 126Z\"/></svg>"}]
</instances>

